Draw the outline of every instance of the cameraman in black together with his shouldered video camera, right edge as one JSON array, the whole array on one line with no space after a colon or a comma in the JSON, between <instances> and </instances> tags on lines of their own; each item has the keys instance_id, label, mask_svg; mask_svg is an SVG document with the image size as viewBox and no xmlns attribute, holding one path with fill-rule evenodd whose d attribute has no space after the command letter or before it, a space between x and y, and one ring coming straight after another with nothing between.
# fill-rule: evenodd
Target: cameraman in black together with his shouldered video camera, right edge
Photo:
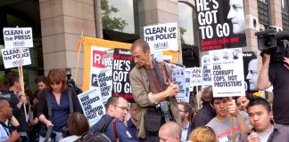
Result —
<instances>
[{"instance_id":1,"label":"cameraman in black together with his shouldered video camera, right edge","mask_svg":"<svg viewBox=\"0 0 289 142\"><path fill-rule=\"evenodd\" d=\"M255 35L262 57L258 89L264 91L273 85L274 120L289 125L289 31L267 29Z\"/></svg>"}]
</instances>

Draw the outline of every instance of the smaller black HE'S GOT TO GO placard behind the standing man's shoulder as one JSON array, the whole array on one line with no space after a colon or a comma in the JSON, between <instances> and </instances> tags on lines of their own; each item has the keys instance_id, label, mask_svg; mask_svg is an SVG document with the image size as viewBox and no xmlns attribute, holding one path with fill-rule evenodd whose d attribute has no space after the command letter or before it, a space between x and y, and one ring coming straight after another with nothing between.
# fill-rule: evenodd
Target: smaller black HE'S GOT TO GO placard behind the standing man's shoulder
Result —
<instances>
[{"instance_id":1,"label":"smaller black HE'S GOT TO GO placard behind the standing man's shoulder","mask_svg":"<svg viewBox=\"0 0 289 142\"><path fill-rule=\"evenodd\" d=\"M131 51L115 48L112 62L112 96L121 96L128 101L133 101L129 72L135 67Z\"/></svg>"}]
</instances>

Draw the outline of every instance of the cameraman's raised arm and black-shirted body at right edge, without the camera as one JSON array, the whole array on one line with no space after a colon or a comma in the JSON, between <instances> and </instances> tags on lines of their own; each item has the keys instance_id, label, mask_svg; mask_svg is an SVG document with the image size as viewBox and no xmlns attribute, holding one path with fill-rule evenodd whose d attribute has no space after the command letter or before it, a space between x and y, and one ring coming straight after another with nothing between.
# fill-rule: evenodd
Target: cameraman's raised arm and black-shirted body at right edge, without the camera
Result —
<instances>
[{"instance_id":1,"label":"cameraman's raised arm and black-shirted body at right edge, without the camera","mask_svg":"<svg viewBox=\"0 0 289 142\"><path fill-rule=\"evenodd\" d=\"M262 51L261 56L262 67L258 77L258 89L263 91L273 85L273 118L278 124L289 125L288 58L284 58L284 62L274 61L271 59L274 57L266 51Z\"/></svg>"}]
</instances>

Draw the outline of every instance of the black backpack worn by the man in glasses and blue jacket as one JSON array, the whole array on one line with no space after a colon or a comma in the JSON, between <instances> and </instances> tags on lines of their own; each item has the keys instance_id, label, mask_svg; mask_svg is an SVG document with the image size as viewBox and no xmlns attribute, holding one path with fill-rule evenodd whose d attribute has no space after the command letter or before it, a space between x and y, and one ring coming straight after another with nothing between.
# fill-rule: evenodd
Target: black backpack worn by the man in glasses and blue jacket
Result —
<instances>
[{"instance_id":1,"label":"black backpack worn by the man in glasses and blue jacket","mask_svg":"<svg viewBox=\"0 0 289 142\"><path fill-rule=\"evenodd\" d=\"M120 136L117 131L117 118L109 117L103 122L102 127L94 132L87 132L78 138L75 142L111 142L111 139L105 135L105 131L112 121L112 130L116 142L120 142Z\"/></svg>"}]
</instances>

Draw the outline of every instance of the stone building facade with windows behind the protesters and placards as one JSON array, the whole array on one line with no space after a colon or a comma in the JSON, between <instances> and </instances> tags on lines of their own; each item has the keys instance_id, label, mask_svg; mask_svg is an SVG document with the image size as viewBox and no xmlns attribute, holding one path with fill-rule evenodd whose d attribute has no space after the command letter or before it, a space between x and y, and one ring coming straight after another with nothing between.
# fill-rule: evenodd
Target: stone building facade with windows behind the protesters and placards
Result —
<instances>
[{"instance_id":1,"label":"stone building facade with windows behind the protesters and placards","mask_svg":"<svg viewBox=\"0 0 289 142\"><path fill-rule=\"evenodd\" d=\"M35 90L36 76L46 75L50 69L69 67L75 76L82 32L84 36L133 43L143 37L145 26L178 22L179 62L186 67L200 66L202 55L208 52L199 49L194 5L194 0L2 0L0 27L32 28L32 65L24 67L24 76L26 88ZM247 46L243 51L259 54L255 33L268 26L289 29L288 7L289 0L244 0ZM0 44L4 48L3 35ZM10 69L0 64L1 82ZM77 75L80 87L82 75L83 51Z\"/></svg>"}]
</instances>

